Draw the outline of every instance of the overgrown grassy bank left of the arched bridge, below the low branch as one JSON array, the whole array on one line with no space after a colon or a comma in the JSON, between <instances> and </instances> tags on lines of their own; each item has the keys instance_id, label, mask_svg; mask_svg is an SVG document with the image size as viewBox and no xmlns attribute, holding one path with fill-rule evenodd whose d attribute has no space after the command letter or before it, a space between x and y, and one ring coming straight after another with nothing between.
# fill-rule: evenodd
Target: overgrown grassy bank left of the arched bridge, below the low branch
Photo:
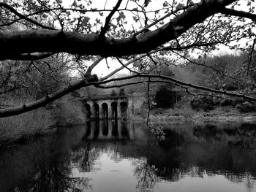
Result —
<instances>
[{"instance_id":1,"label":"overgrown grassy bank left of the arched bridge, below the low branch","mask_svg":"<svg viewBox=\"0 0 256 192\"><path fill-rule=\"evenodd\" d=\"M70 96L64 96L50 104L48 110L40 107L21 115L0 118L0 145L48 133L56 126L76 126L86 123L83 104L69 99ZM29 101L32 99L15 98L6 105L15 106Z\"/></svg>"}]
</instances>

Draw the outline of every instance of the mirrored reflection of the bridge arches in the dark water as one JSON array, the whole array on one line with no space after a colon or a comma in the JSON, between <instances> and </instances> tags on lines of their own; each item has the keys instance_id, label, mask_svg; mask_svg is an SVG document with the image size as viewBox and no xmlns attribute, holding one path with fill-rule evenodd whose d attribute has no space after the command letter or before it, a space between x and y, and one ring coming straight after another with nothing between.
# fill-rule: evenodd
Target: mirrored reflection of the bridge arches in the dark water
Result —
<instances>
[{"instance_id":1,"label":"mirrored reflection of the bridge arches in the dark water","mask_svg":"<svg viewBox=\"0 0 256 192\"><path fill-rule=\"evenodd\" d=\"M91 120L86 124L86 140L133 140L134 129L127 120Z\"/></svg>"}]
</instances>

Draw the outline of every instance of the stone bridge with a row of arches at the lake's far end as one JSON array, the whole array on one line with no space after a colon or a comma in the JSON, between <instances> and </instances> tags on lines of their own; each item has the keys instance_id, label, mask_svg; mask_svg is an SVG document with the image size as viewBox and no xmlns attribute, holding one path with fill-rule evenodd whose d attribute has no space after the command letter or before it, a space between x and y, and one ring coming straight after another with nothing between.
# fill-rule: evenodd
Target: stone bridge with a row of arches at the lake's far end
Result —
<instances>
[{"instance_id":1,"label":"stone bridge with a row of arches at the lake's far end","mask_svg":"<svg viewBox=\"0 0 256 192\"><path fill-rule=\"evenodd\" d=\"M76 104L82 107L86 120L127 119L131 115L141 112L143 104L148 103L147 98L145 93L130 93L80 96L72 101L76 101Z\"/></svg>"}]
</instances>

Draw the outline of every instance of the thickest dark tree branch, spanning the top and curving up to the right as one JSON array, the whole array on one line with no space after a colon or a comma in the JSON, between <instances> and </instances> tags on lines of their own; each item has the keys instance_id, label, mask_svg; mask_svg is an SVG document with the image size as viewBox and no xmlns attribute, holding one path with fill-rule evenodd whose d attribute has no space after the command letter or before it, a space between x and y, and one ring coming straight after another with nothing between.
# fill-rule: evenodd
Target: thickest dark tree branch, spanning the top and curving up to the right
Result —
<instances>
[{"instance_id":1,"label":"thickest dark tree branch, spanning the top and curving up to the right","mask_svg":"<svg viewBox=\"0 0 256 192\"><path fill-rule=\"evenodd\" d=\"M208 0L195 4L169 23L136 37L102 38L98 34L80 34L56 30L12 31L0 34L0 60L23 53L50 52L80 55L121 56L148 53L176 39L189 28L203 22L236 0ZM24 46L26 45L26 46Z\"/></svg>"}]
</instances>

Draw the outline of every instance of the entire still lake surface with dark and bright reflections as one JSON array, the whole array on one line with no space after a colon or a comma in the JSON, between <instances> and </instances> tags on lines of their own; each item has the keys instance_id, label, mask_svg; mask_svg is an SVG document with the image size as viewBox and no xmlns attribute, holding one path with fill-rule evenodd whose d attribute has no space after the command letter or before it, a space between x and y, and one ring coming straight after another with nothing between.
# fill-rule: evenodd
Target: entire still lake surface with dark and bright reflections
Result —
<instances>
[{"instance_id":1,"label":"entire still lake surface with dark and bright reflections","mask_svg":"<svg viewBox=\"0 0 256 192\"><path fill-rule=\"evenodd\" d=\"M154 127L159 125L154 124ZM0 191L256 191L256 125L101 121L0 150Z\"/></svg>"}]
</instances>

